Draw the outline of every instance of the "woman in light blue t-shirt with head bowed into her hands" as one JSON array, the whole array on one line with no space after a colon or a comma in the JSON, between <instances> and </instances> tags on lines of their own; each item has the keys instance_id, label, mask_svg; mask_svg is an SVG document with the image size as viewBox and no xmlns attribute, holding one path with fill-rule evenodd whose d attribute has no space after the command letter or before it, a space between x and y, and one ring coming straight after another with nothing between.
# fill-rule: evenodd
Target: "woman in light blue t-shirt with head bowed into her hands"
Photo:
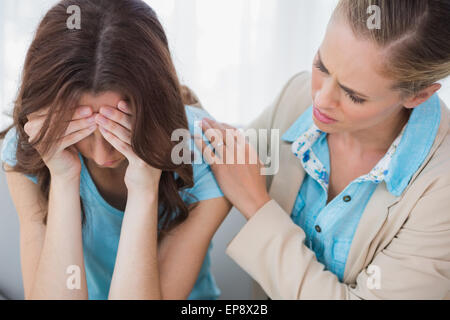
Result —
<instances>
[{"instance_id":1,"label":"woman in light blue t-shirt with head bowed into her hands","mask_svg":"<svg viewBox=\"0 0 450 320\"><path fill-rule=\"evenodd\" d=\"M208 116L195 103L143 1L46 14L0 135L27 299L219 296L210 243L229 203L206 163L172 159L172 133Z\"/></svg>"}]
</instances>

